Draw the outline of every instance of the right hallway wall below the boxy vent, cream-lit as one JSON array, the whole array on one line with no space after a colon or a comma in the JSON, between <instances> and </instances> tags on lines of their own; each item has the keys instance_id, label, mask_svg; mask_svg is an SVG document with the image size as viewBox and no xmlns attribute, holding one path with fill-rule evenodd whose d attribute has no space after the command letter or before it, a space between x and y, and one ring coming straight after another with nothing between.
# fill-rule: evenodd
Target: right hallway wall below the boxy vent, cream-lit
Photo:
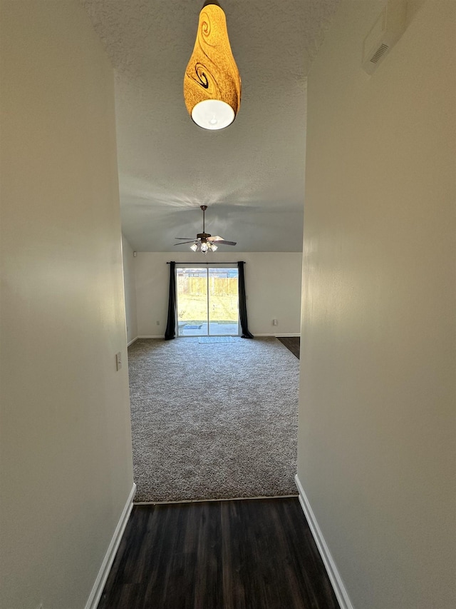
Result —
<instances>
[{"instance_id":1,"label":"right hallway wall below the boxy vent, cream-lit","mask_svg":"<svg viewBox=\"0 0 456 609\"><path fill-rule=\"evenodd\" d=\"M455 9L342 0L308 82L298 473L356 609L455 599Z\"/></svg>"}]
</instances>

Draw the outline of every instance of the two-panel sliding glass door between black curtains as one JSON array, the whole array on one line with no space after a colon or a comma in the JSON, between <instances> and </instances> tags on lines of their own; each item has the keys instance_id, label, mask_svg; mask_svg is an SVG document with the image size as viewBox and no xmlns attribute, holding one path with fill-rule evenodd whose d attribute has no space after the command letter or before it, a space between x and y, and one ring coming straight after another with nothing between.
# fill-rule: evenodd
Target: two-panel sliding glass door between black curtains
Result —
<instances>
[{"instance_id":1,"label":"two-panel sliding glass door between black curtains","mask_svg":"<svg viewBox=\"0 0 456 609\"><path fill-rule=\"evenodd\" d=\"M178 266L177 336L238 336L238 271L231 266Z\"/></svg>"}]
</instances>

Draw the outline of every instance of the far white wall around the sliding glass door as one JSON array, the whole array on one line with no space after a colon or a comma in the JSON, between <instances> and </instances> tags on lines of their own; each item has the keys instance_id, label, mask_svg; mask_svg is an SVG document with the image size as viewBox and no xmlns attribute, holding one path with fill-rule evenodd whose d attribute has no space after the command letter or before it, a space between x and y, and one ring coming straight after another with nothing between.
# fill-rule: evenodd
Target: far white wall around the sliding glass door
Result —
<instances>
[{"instance_id":1,"label":"far white wall around the sliding glass door","mask_svg":"<svg viewBox=\"0 0 456 609\"><path fill-rule=\"evenodd\" d=\"M211 256L209 258L209 256ZM300 332L301 252L138 252L135 258L138 303L138 335L164 336L167 321L170 267L176 262L237 262L246 265L247 316L252 334L276 335ZM272 326L272 320L279 321ZM157 321L160 326L157 326Z\"/></svg>"}]
</instances>

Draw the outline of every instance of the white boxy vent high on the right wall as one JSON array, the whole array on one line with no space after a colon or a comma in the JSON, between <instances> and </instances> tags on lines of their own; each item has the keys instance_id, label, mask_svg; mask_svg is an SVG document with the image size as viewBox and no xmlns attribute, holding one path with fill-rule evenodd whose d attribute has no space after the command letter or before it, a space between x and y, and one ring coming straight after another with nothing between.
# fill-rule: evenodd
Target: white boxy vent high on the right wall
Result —
<instances>
[{"instance_id":1,"label":"white boxy vent high on the right wall","mask_svg":"<svg viewBox=\"0 0 456 609\"><path fill-rule=\"evenodd\" d=\"M388 0L363 42L363 70L373 74L405 30L403 0Z\"/></svg>"}]
</instances>

